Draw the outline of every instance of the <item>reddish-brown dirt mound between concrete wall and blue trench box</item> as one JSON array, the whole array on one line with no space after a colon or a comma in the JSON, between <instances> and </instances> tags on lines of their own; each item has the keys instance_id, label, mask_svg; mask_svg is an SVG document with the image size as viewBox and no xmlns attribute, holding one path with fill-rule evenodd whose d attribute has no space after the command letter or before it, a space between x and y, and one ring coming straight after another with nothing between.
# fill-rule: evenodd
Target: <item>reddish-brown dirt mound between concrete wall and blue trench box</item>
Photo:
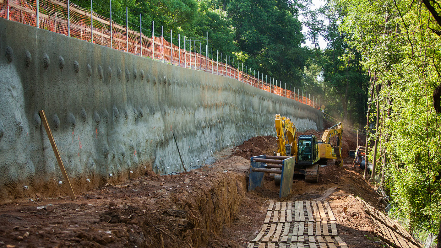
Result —
<instances>
[{"instance_id":1,"label":"reddish-brown dirt mound between concrete wall and blue trench box","mask_svg":"<svg viewBox=\"0 0 441 248\"><path fill-rule=\"evenodd\" d=\"M273 155L276 151L276 142L276 137L273 136L253 137L237 146L233 151L233 155L241 156L245 159L263 154Z\"/></svg>"}]
</instances>

